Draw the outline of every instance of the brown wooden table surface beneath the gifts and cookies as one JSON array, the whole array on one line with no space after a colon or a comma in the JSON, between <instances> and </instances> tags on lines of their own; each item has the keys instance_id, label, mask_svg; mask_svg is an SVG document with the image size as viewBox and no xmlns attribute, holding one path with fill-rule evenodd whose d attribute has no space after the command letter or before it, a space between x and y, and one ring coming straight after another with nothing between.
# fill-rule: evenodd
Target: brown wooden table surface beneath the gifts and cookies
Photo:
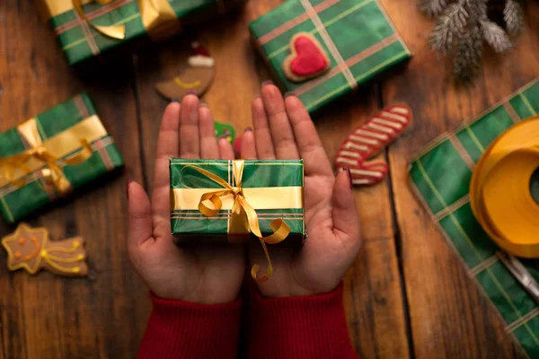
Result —
<instances>
[{"instance_id":1,"label":"brown wooden table surface beneath the gifts and cookies","mask_svg":"<svg viewBox=\"0 0 539 359\"><path fill-rule=\"evenodd\" d=\"M270 78L247 24L280 0L251 0L239 15L171 42L146 48L113 71L82 80L69 69L31 1L0 2L0 129L6 130L77 92L93 96L127 162L121 178L40 215L54 238L83 235L94 281L43 273L8 273L0 251L0 358L131 358L150 311L147 289L126 251L125 186L152 187L155 141L166 102L154 83L172 78L195 36L216 59L205 101L216 119L249 126L250 103ZM527 4L526 32L504 56L487 51L473 87L451 81L448 62L427 47L432 22L415 0L381 0L414 57L353 96L315 116L330 156L353 127L385 105L405 101L415 120L380 154L388 180L355 194L365 245L345 277L349 333L363 358L512 358L517 348L406 186L411 154L472 118L539 74L539 4ZM13 227L0 226L0 235Z\"/></svg>"}]
</instances>

